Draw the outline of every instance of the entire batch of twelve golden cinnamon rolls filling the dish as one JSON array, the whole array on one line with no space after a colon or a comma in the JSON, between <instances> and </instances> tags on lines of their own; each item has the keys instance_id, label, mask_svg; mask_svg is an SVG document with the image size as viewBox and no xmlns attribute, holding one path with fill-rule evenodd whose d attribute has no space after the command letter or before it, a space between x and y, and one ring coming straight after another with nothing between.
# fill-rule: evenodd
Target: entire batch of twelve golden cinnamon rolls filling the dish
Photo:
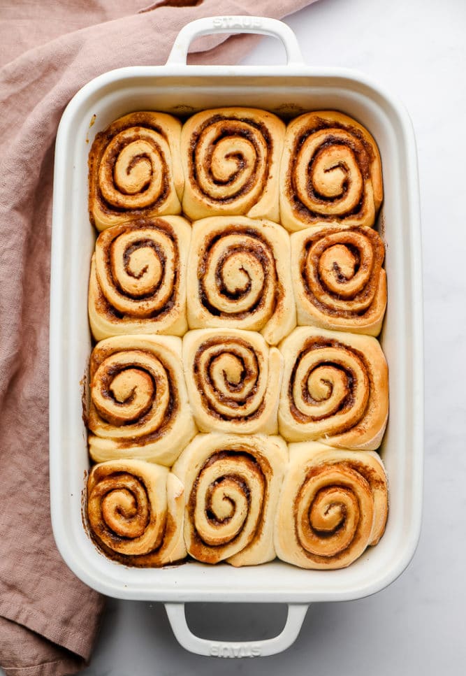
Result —
<instances>
[{"instance_id":1,"label":"entire batch of twelve golden cinnamon rolls filling the dish","mask_svg":"<svg viewBox=\"0 0 466 676\"><path fill-rule=\"evenodd\" d=\"M87 516L126 565L343 568L384 532L388 369L356 335L386 305L379 152L335 111L284 138L263 110L140 112L89 154Z\"/></svg>"}]
</instances>

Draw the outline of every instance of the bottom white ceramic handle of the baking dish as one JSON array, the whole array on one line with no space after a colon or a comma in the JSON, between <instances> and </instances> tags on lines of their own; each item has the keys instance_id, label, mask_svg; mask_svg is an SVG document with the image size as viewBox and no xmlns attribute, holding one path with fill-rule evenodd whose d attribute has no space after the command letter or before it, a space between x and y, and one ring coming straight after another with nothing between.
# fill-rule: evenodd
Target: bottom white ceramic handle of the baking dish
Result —
<instances>
[{"instance_id":1,"label":"bottom white ceramic handle of the baking dish","mask_svg":"<svg viewBox=\"0 0 466 676\"><path fill-rule=\"evenodd\" d=\"M266 605L266 604L264 604ZM298 638L306 617L307 603L290 603L282 632L274 638L258 641L211 641L194 635L189 629L184 613L184 603L166 603L165 608L177 641L197 655L210 657L266 657L289 648Z\"/></svg>"}]
</instances>

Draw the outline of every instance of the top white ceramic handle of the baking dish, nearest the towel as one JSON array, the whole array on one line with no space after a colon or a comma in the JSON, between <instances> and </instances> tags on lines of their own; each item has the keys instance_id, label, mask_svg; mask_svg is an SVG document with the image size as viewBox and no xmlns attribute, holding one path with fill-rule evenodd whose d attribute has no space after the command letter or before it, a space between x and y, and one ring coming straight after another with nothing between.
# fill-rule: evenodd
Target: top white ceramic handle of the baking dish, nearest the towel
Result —
<instances>
[{"instance_id":1,"label":"top white ceramic handle of the baking dish, nearest the towel","mask_svg":"<svg viewBox=\"0 0 466 676\"><path fill-rule=\"evenodd\" d=\"M259 33L282 41L288 66L302 66L303 55L296 35L284 22L270 17L218 16L203 17L182 27L175 38L167 66L186 66L189 45L195 38L212 33Z\"/></svg>"}]
</instances>

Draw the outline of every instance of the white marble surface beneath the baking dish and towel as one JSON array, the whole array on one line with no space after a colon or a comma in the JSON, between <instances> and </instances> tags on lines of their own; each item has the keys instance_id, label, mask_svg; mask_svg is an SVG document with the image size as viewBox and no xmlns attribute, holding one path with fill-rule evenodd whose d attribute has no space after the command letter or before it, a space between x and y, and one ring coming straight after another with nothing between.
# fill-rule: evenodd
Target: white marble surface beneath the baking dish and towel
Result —
<instances>
[{"instance_id":1,"label":"white marble surface beneath the baking dish and towel","mask_svg":"<svg viewBox=\"0 0 466 676\"><path fill-rule=\"evenodd\" d=\"M398 94L414 122L425 299L421 540L409 568L388 589L361 601L310 607L296 643L272 658L194 656L177 644L162 605L109 601L85 676L464 673L466 1L320 0L286 22L308 64L371 75ZM282 59L282 49L270 38L245 63ZM458 131L452 134L453 129ZM193 612L199 631L214 626L215 638L240 638L234 629L238 609L210 610ZM267 619L249 609L247 617L247 631L259 638L278 628L282 609Z\"/></svg>"}]
</instances>

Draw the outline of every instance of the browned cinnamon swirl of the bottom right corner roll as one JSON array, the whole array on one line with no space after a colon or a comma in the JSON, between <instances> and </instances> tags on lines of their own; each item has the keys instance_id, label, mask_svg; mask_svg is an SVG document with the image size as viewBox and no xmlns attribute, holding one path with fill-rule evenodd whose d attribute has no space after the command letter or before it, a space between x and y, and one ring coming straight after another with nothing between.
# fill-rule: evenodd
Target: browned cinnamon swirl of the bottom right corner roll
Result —
<instances>
[{"instance_id":1,"label":"browned cinnamon swirl of the bottom right corner roll","mask_svg":"<svg viewBox=\"0 0 466 676\"><path fill-rule=\"evenodd\" d=\"M365 478L344 463L312 471L295 500L298 542L317 558L363 552L372 530L374 503Z\"/></svg>"}]
</instances>

